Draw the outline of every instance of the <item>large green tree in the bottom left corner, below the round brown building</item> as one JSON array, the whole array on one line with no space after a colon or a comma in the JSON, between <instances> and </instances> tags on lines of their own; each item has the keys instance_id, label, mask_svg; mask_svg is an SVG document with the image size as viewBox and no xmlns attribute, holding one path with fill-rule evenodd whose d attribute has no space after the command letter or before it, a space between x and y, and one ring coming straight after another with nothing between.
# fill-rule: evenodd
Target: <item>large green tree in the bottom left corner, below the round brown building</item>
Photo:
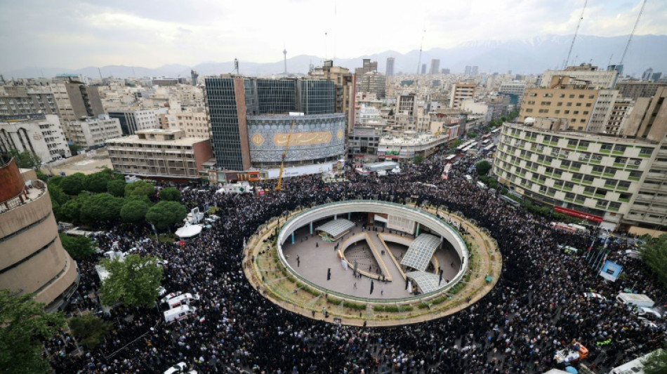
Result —
<instances>
[{"instance_id":1,"label":"large green tree in the bottom left corner, below the round brown building","mask_svg":"<svg viewBox=\"0 0 667 374\"><path fill-rule=\"evenodd\" d=\"M0 290L0 373L47 373L42 342L64 326L61 312L47 313L32 295Z\"/></svg>"}]
</instances>

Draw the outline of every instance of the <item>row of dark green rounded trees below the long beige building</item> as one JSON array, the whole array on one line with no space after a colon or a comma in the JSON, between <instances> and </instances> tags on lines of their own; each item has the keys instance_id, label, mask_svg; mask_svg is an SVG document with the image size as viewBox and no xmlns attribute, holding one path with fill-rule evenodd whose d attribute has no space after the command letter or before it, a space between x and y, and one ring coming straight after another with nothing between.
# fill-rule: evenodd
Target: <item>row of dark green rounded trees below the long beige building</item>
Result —
<instances>
[{"instance_id":1,"label":"row of dark green rounded trees below the long beige building","mask_svg":"<svg viewBox=\"0 0 667 374\"><path fill-rule=\"evenodd\" d=\"M187 215L185 206L178 203L178 189L161 189L161 201L154 204L152 183L126 183L122 175L109 169L89 175L55 175L48 180L48 191L56 218L77 224L120 219L133 225L150 222L165 230Z\"/></svg>"}]
</instances>

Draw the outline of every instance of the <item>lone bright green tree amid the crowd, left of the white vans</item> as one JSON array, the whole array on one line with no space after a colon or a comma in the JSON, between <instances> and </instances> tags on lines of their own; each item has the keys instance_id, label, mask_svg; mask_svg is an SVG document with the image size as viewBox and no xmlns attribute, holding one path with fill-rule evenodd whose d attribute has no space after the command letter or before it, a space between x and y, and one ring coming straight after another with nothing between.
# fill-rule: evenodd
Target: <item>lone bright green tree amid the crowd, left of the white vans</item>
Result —
<instances>
[{"instance_id":1,"label":"lone bright green tree amid the crowd, left of the white vans","mask_svg":"<svg viewBox=\"0 0 667 374\"><path fill-rule=\"evenodd\" d=\"M162 268L156 262L155 258L140 255L127 255L122 261L103 260L110 273L100 291L103 304L121 302L130 308L152 307L162 279Z\"/></svg>"}]
</instances>

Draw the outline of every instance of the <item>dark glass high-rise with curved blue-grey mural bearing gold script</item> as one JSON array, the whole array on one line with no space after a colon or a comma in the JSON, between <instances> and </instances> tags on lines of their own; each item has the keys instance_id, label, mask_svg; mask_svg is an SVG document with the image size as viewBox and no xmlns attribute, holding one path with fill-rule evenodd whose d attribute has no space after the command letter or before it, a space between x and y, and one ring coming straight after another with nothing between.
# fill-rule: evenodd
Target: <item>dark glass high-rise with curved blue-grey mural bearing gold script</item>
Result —
<instances>
[{"instance_id":1,"label":"dark glass high-rise with curved blue-grey mural bearing gold script","mask_svg":"<svg viewBox=\"0 0 667 374\"><path fill-rule=\"evenodd\" d=\"M228 75L207 77L205 84L218 168L279 166L292 121L298 135L286 161L317 163L343 154L345 115L336 113L334 81Z\"/></svg>"}]
</instances>

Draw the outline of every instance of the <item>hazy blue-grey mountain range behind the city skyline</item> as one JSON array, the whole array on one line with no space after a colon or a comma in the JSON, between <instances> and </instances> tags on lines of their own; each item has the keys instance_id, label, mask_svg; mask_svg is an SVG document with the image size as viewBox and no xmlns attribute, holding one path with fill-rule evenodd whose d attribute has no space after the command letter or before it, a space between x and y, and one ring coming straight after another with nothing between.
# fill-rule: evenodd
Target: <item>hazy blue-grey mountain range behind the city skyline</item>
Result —
<instances>
[{"instance_id":1,"label":"hazy blue-grey mountain range behind the city skyline","mask_svg":"<svg viewBox=\"0 0 667 374\"><path fill-rule=\"evenodd\" d=\"M579 35L574 43L570 64L592 62L593 65L606 67L619 63L623 50L626 48L628 36L588 36ZM432 59L440 59L440 68L450 69L452 74L463 73L466 65L479 67L482 73L539 74L546 69L560 69L564 65L572 35L536 36L531 39L510 41L470 41L453 48L432 48L420 53L418 50L408 53L384 51L374 55L362 55L356 58L336 58L334 65L354 70L362 66L363 58L378 62L378 71L385 72L388 57L395 58L394 72L414 74L420 61L430 69ZM239 72L244 75L280 74L284 71L282 59L276 62L258 63L244 61L239 56ZM315 55L298 55L287 59L287 69L293 74L306 74L310 65L322 65L324 58ZM623 61L624 74L641 76L642 72L652 67L654 72L667 74L667 35L637 35L633 37L628 53ZM83 67L81 69L65 69L59 67L25 67L2 72L5 79L27 78L37 76L55 76L55 74L83 74L99 77L115 76L190 76L194 69L200 76L210 74L226 74L234 69L233 61L204 62L199 65L187 66L179 64L164 65L157 68L131 67L124 65L107 65L103 67Z\"/></svg>"}]
</instances>

